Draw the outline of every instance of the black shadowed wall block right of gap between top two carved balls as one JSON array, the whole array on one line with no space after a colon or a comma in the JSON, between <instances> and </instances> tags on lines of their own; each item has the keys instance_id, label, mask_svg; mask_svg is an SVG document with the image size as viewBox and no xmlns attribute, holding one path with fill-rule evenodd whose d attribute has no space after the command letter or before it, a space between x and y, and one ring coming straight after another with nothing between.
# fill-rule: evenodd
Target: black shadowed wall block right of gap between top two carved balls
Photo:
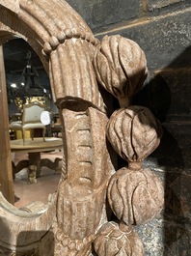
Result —
<instances>
[{"instance_id":1,"label":"black shadowed wall block right of gap between top two carved balls","mask_svg":"<svg viewBox=\"0 0 191 256\"><path fill-rule=\"evenodd\" d=\"M189 54L189 53L188 53ZM188 62L188 65L191 63ZM165 68L153 75L134 103L146 105L160 122L190 122L190 68ZM178 105L178 107L177 107ZM172 124L176 125L176 124ZM187 123L189 125L189 123Z\"/></svg>"}]
</instances>

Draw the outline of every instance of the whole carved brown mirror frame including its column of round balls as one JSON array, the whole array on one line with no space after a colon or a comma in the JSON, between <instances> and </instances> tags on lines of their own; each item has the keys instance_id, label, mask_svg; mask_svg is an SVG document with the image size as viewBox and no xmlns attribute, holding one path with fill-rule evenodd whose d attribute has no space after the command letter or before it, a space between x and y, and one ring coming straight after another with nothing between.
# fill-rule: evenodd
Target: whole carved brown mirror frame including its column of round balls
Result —
<instances>
[{"instance_id":1,"label":"whole carved brown mirror frame including its column of round balls","mask_svg":"<svg viewBox=\"0 0 191 256\"><path fill-rule=\"evenodd\" d=\"M144 51L120 35L99 42L63 0L0 6L0 29L25 37L49 72L64 141L58 190L41 213L16 210L1 195L0 252L144 255L133 226L150 221L163 206L163 187L143 164L162 129L148 108L131 105L148 73ZM120 109L110 107L108 93ZM126 160L120 170L117 154Z\"/></svg>"}]
</instances>

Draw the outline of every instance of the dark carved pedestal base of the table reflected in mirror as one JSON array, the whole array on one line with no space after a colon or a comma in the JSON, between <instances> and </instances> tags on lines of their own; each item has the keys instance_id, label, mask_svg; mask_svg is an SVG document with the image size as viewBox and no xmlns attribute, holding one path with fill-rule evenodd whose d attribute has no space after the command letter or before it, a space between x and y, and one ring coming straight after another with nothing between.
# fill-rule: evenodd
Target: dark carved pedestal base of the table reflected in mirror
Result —
<instances>
[{"instance_id":1,"label":"dark carved pedestal base of the table reflected in mirror","mask_svg":"<svg viewBox=\"0 0 191 256\"><path fill-rule=\"evenodd\" d=\"M62 159L56 157L54 161L49 158L41 159L41 152L28 153L29 158L19 161L16 165L12 162L14 176L16 173L24 168L28 168L28 182L29 184L36 184L37 178L41 176L41 167L45 166L54 170L55 174L61 173Z\"/></svg>"}]
</instances>

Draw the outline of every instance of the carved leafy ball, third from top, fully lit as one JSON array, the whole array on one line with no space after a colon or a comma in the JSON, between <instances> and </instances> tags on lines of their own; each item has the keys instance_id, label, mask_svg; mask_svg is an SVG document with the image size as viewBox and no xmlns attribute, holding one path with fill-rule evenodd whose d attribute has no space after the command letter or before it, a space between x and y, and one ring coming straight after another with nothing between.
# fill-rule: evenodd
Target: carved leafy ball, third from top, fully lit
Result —
<instances>
[{"instance_id":1,"label":"carved leafy ball, third from top, fully lit","mask_svg":"<svg viewBox=\"0 0 191 256\"><path fill-rule=\"evenodd\" d=\"M107 196L112 211L126 225L149 222L164 203L163 185L150 169L123 167L111 177Z\"/></svg>"}]
</instances>

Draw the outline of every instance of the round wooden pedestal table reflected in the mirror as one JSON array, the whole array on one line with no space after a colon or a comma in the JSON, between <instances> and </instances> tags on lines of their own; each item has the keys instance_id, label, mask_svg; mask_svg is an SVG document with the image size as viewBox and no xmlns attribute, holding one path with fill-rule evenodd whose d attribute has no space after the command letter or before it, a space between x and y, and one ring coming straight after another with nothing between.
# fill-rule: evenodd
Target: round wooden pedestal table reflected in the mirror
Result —
<instances>
[{"instance_id":1,"label":"round wooden pedestal table reflected in the mirror","mask_svg":"<svg viewBox=\"0 0 191 256\"><path fill-rule=\"evenodd\" d=\"M61 172L62 158L56 157L54 161L48 158L41 158L42 152L51 152L63 149L63 140L56 137L26 139L23 145L22 139L10 141L11 151L13 153L28 153L28 159L23 159L17 164L12 162L14 175L24 168L28 168L29 183L37 183L37 177L41 176L41 166L53 169L55 173Z\"/></svg>"}]
</instances>

